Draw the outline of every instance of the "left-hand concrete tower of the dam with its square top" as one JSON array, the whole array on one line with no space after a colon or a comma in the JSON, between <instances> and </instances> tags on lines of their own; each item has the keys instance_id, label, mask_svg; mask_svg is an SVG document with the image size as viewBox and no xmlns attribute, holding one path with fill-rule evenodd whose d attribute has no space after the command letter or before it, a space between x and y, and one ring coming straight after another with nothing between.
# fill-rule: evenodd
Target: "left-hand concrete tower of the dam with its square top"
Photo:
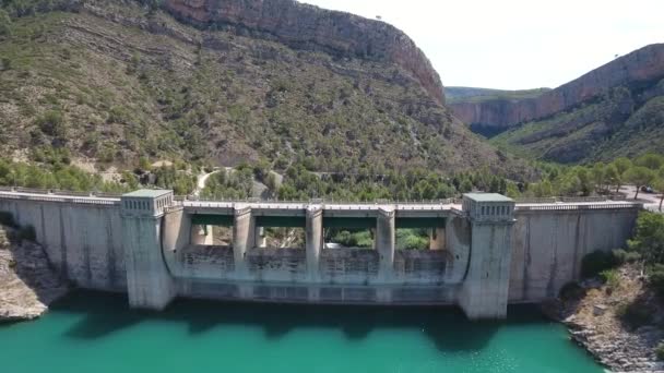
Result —
<instances>
[{"instance_id":1,"label":"left-hand concrete tower of the dam with its square top","mask_svg":"<svg viewBox=\"0 0 664 373\"><path fill-rule=\"evenodd\" d=\"M129 305L161 311L176 294L174 279L162 253L164 200L171 191L138 191L122 196L122 244Z\"/></svg>"}]
</instances>

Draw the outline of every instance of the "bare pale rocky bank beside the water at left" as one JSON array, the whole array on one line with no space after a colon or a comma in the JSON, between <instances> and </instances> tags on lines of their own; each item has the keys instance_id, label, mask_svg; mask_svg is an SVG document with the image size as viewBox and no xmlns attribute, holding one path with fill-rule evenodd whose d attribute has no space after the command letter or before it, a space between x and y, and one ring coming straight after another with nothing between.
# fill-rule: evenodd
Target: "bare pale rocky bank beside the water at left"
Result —
<instances>
[{"instance_id":1,"label":"bare pale rocky bank beside the water at left","mask_svg":"<svg viewBox=\"0 0 664 373\"><path fill-rule=\"evenodd\" d=\"M12 239L16 233L0 226L0 323L39 317L69 290L50 267L44 249Z\"/></svg>"}]
</instances>

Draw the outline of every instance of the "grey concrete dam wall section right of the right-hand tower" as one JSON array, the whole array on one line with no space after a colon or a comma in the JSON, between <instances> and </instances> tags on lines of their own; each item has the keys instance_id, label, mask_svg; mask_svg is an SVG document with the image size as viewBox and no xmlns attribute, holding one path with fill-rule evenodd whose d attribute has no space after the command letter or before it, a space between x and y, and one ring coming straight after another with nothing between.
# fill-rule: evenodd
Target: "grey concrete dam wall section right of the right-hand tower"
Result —
<instances>
[{"instance_id":1,"label":"grey concrete dam wall section right of the right-hand tower","mask_svg":"<svg viewBox=\"0 0 664 373\"><path fill-rule=\"evenodd\" d=\"M639 209L602 204L522 206L512 230L509 299L538 302L554 298L580 278L581 260L597 250L626 246Z\"/></svg>"}]
</instances>

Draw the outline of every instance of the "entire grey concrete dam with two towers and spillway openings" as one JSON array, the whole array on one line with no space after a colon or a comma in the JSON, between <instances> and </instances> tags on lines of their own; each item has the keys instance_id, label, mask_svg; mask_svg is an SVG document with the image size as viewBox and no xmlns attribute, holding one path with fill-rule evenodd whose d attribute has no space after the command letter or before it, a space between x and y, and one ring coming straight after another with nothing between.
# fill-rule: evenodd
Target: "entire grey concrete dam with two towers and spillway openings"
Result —
<instances>
[{"instance_id":1,"label":"entire grey concrete dam with two towers and spillway openings","mask_svg":"<svg viewBox=\"0 0 664 373\"><path fill-rule=\"evenodd\" d=\"M642 204L604 198L341 204L182 201L0 190L0 210L35 228L51 264L76 286L127 292L132 308L175 297L257 302L459 305L503 318L579 278L582 257L621 248ZM214 245L212 227L233 242ZM301 228L303 248L268 248L269 227ZM325 229L368 229L372 249L329 248ZM428 250L396 250L399 228L430 231Z\"/></svg>"}]
</instances>

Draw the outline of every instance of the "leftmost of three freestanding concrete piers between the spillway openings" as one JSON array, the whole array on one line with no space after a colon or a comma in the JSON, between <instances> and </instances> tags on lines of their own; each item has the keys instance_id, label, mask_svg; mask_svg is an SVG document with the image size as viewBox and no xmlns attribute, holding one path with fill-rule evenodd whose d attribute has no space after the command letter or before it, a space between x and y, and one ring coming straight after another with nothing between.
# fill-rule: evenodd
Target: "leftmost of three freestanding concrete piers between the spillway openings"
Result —
<instances>
[{"instance_id":1,"label":"leftmost of three freestanding concrete piers between the spillway openings","mask_svg":"<svg viewBox=\"0 0 664 373\"><path fill-rule=\"evenodd\" d=\"M256 245L256 219L251 216L251 208L244 205L235 206L235 220L233 224L233 258L235 276L238 279L247 276L245 256L248 250Z\"/></svg>"}]
</instances>

